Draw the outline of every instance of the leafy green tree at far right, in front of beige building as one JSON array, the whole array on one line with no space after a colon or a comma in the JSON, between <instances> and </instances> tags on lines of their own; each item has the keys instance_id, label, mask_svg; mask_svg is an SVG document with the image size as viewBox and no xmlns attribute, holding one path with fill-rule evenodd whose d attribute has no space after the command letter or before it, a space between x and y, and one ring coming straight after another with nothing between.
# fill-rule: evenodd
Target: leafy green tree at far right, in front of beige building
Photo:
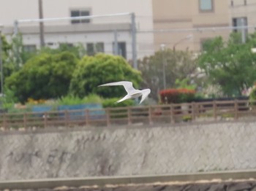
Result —
<instances>
[{"instance_id":1,"label":"leafy green tree at far right, in front of beige building","mask_svg":"<svg viewBox=\"0 0 256 191\"><path fill-rule=\"evenodd\" d=\"M241 42L239 33L230 34L227 42L218 36L203 44L198 64L209 82L220 85L225 95L241 95L244 87L252 86L256 79L256 55L252 47L256 47L256 34L249 35L246 43Z\"/></svg>"}]
</instances>

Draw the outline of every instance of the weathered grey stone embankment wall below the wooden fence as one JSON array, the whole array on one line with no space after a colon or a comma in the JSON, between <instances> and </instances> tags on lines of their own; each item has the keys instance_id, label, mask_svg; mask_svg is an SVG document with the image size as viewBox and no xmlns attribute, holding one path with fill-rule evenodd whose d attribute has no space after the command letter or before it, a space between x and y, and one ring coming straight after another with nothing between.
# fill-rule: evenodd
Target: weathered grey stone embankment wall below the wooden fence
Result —
<instances>
[{"instance_id":1,"label":"weathered grey stone embankment wall below the wooden fence","mask_svg":"<svg viewBox=\"0 0 256 191\"><path fill-rule=\"evenodd\" d=\"M0 179L256 168L256 122L0 134Z\"/></svg>"}]
</instances>

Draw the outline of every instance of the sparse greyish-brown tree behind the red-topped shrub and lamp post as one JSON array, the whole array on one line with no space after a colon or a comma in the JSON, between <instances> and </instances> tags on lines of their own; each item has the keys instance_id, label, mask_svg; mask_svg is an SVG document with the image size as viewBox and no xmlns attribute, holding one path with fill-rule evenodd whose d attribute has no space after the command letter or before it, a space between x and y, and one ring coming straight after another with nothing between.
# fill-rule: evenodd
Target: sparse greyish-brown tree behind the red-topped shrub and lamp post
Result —
<instances>
[{"instance_id":1,"label":"sparse greyish-brown tree behind the red-topped shrub and lamp post","mask_svg":"<svg viewBox=\"0 0 256 191\"><path fill-rule=\"evenodd\" d=\"M142 72L143 84L151 89L151 96L157 100L159 90L164 89L163 64L165 63L166 87L175 87L176 79L190 79L196 69L192 52L167 49L158 51L150 57L138 61L138 68Z\"/></svg>"}]
</instances>

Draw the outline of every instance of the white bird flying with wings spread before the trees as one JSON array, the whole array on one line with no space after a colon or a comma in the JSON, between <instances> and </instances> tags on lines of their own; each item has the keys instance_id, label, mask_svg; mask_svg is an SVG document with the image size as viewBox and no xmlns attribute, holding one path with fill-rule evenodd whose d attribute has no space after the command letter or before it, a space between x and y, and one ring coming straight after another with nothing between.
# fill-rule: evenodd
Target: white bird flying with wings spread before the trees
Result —
<instances>
[{"instance_id":1,"label":"white bird flying with wings spread before the trees","mask_svg":"<svg viewBox=\"0 0 256 191\"><path fill-rule=\"evenodd\" d=\"M136 90L134 87L132 87L132 82L127 82L127 81L111 82L111 83L99 85L99 86L113 86L113 85L123 85L124 89L127 91L127 95L125 95L124 98L121 98L120 100L116 101L115 104L130 98L138 98L142 95L140 99L140 104L141 104L148 97L148 94L151 92L150 89Z\"/></svg>"}]
</instances>

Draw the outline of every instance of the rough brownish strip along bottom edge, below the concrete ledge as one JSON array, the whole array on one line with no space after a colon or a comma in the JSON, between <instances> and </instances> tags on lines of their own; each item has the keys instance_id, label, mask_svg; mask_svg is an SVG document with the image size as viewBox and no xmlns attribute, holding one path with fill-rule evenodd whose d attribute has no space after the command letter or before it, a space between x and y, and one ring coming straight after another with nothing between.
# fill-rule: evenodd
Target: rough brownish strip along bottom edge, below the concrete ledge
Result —
<instances>
[{"instance_id":1,"label":"rough brownish strip along bottom edge, below the concrete ledge","mask_svg":"<svg viewBox=\"0 0 256 191\"><path fill-rule=\"evenodd\" d=\"M127 185L106 185L105 187L56 187L54 189L40 188L39 190L69 190L69 191L178 191L178 190L201 190L201 191L255 191L255 180L240 180L240 181L211 181L211 182L166 182L157 184L127 184ZM0 190L1 191L1 190ZM10 190L3 190L10 191ZM15 189L15 191L25 191ZM36 191L33 189L27 191Z\"/></svg>"}]
</instances>

